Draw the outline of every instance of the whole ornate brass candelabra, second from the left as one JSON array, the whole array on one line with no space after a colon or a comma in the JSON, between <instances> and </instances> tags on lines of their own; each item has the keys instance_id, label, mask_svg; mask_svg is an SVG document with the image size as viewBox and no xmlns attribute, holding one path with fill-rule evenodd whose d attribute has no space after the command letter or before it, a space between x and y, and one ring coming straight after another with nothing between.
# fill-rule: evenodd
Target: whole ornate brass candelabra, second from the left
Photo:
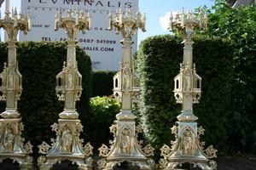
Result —
<instances>
[{"instance_id":1,"label":"whole ornate brass candelabra, second from the left","mask_svg":"<svg viewBox=\"0 0 256 170\"><path fill-rule=\"evenodd\" d=\"M64 62L62 71L56 76L56 94L59 100L65 102L64 111L61 112L58 123L52 125L56 133L53 144L45 142L39 145L39 153L45 156L38 158L38 167L49 170L56 162L72 161L81 170L92 169L92 146L87 143L83 146L83 139L79 139L83 126L76 111L76 101L82 94L82 76L78 71L76 60L76 38L78 32L85 33L90 30L90 14L77 10L68 10L67 15L58 10L55 14L55 31L64 28L67 33L67 65Z\"/></svg>"}]
</instances>

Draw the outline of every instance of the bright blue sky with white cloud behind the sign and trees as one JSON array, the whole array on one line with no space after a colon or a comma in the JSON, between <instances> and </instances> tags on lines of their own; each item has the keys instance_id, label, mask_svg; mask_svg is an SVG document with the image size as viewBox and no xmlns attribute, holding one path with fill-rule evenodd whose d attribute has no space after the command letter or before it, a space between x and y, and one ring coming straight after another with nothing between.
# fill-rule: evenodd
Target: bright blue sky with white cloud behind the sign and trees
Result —
<instances>
[{"instance_id":1,"label":"bright blue sky with white cloud behind the sign and trees","mask_svg":"<svg viewBox=\"0 0 256 170\"><path fill-rule=\"evenodd\" d=\"M20 8L21 0L12 0L12 2L13 7ZM213 3L213 0L139 0L139 8L147 16L147 31L138 31L138 41L140 42L146 37L169 33L164 27L168 23L171 11L181 11L182 8L187 11L203 5L211 7ZM4 6L3 4L3 8L1 8L2 15Z\"/></svg>"}]
</instances>

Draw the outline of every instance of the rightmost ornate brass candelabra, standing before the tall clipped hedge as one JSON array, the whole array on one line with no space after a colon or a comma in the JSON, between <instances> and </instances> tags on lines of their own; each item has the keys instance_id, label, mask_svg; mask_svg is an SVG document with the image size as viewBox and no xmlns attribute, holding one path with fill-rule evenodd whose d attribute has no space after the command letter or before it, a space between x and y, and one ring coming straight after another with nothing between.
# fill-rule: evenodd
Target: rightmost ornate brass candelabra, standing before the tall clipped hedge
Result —
<instances>
[{"instance_id":1,"label":"rightmost ornate brass candelabra, standing before the tall clipped hedge","mask_svg":"<svg viewBox=\"0 0 256 170\"><path fill-rule=\"evenodd\" d=\"M201 98L201 77L196 74L195 64L193 64L193 41L192 37L196 27L207 29L207 14L201 12L195 16L192 12L188 14L177 13L173 18L171 14L171 29L184 35L183 64L180 71L174 78L174 95L177 103L183 105L180 115L177 116L178 122L172 127L175 134L175 141L171 141L172 147L164 144L160 149L161 169L171 170L182 167L183 163L189 163L194 167L213 170L217 168L215 161L211 161L216 156L217 150L212 145L206 150L204 142L200 141L201 134L204 134L202 127L197 127L197 117L193 114L193 104L199 103Z\"/></svg>"}]
</instances>

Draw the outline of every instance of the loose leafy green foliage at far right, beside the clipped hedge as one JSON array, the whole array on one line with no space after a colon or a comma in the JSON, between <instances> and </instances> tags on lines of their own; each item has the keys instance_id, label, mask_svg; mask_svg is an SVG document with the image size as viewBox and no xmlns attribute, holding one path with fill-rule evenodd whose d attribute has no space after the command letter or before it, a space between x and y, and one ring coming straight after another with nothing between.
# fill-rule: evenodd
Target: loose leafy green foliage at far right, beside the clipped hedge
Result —
<instances>
[{"instance_id":1,"label":"loose leafy green foliage at far right, beside the clipped hedge","mask_svg":"<svg viewBox=\"0 0 256 170\"><path fill-rule=\"evenodd\" d=\"M209 14L208 36L233 42L235 82L232 90L230 132L233 150L256 153L256 4L230 8L215 0Z\"/></svg>"}]
</instances>

